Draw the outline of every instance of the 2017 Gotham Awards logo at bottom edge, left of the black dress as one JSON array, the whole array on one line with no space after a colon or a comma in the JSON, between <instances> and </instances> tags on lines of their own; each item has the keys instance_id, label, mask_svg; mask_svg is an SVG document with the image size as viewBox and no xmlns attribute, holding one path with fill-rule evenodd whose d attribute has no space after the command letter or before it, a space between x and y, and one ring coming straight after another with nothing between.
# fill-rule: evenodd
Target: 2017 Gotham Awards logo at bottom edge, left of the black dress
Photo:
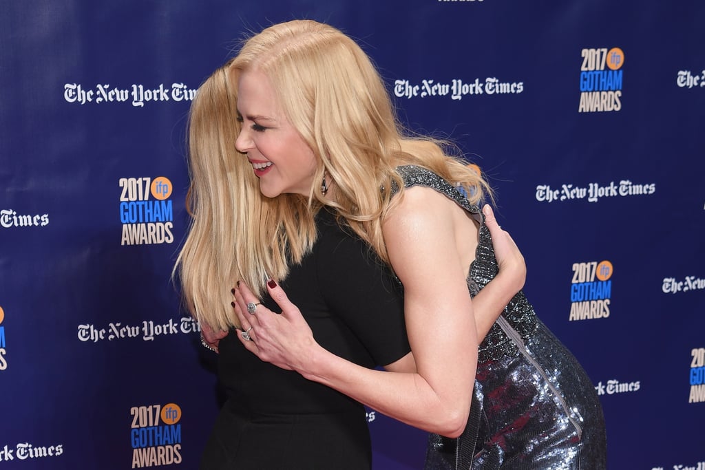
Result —
<instances>
[{"instance_id":1,"label":"2017 Gotham Awards logo at bottom edge, left of the black dress","mask_svg":"<svg viewBox=\"0 0 705 470\"><path fill-rule=\"evenodd\" d=\"M133 469L181 463L181 408L178 404L132 407L130 415Z\"/></svg>"}]
</instances>

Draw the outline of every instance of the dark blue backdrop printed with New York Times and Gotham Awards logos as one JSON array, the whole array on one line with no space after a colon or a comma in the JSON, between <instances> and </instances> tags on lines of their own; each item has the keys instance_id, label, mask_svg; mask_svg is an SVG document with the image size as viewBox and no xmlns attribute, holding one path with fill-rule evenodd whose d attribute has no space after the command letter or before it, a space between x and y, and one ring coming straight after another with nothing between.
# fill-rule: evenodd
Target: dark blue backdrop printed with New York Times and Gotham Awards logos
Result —
<instances>
[{"instance_id":1,"label":"dark blue backdrop printed with New York Times and Gotham Awards logos","mask_svg":"<svg viewBox=\"0 0 705 470\"><path fill-rule=\"evenodd\" d=\"M608 467L704 470L699 0L0 1L0 469L196 468L221 395L170 279L186 116L294 18L355 37L402 120L488 175ZM424 433L369 426L375 469L422 466Z\"/></svg>"}]
</instances>

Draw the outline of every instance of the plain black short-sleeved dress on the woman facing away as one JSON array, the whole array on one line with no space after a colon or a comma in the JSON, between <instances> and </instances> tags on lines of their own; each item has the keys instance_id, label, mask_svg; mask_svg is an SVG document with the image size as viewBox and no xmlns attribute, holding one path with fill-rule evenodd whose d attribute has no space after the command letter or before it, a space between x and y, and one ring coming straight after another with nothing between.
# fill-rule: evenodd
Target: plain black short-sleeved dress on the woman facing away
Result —
<instances>
[{"instance_id":1,"label":"plain black short-sleeved dress on the woman facing away","mask_svg":"<svg viewBox=\"0 0 705 470\"><path fill-rule=\"evenodd\" d=\"M317 215L317 229L312 253L279 284L326 350L369 368L400 359L410 346L393 274L326 209ZM269 296L262 302L280 311ZM362 404L260 361L237 334L231 331L219 345L227 400L200 469L369 469Z\"/></svg>"}]
</instances>

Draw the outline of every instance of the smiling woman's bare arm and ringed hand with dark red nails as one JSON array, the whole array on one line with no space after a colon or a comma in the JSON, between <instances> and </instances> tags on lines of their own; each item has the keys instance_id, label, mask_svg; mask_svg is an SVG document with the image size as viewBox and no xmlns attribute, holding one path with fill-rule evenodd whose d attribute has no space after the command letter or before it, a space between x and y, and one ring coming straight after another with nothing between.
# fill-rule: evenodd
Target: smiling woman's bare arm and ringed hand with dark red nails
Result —
<instances>
[{"instance_id":1,"label":"smiling woman's bare arm and ringed hand with dark red nails","mask_svg":"<svg viewBox=\"0 0 705 470\"><path fill-rule=\"evenodd\" d=\"M412 426L459 435L470 409L478 339L455 239L457 216L451 214L458 208L434 194L438 198L431 197L431 203L428 195L421 201L422 194L408 192L384 225L391 262L405 287L415 371L366 369L324 350L279 287L270 286L270 294L282 307L281 315L264 307L257 307L255 315L243 314L245 304L257 299L244 285L236 292L240 321L253 326L254 341L241 339L245 347L264 361L298 371Z\"/></svg>"}]
</instances>

